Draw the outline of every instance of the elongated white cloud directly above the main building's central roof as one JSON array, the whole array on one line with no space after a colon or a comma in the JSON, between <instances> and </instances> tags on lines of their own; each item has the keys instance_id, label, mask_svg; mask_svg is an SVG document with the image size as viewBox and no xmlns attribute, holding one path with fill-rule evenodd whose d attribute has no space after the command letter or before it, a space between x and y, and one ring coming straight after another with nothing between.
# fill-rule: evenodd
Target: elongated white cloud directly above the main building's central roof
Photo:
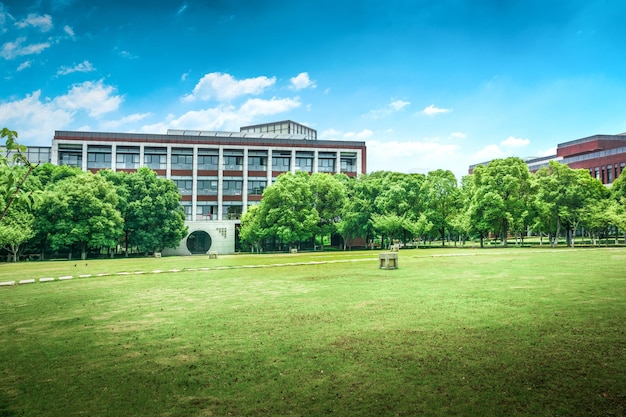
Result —
<instances>
[{"instance_id":1,"label":"elongated white cloud directly above the main building's central roof","mask_svg":"<svg viewBox=\"0 0 626 417\"><path fill-rule=\"evenodd\" d=\"M164 133L167 129L190 130L239 130L262 116L272 116L292 110L301 103L298 99L285 98L270 100L249 99L237 108L233 105L192 110L182 116L169 115L163 122L145 125L142 132Z\"/></svg>"}]
</instances>

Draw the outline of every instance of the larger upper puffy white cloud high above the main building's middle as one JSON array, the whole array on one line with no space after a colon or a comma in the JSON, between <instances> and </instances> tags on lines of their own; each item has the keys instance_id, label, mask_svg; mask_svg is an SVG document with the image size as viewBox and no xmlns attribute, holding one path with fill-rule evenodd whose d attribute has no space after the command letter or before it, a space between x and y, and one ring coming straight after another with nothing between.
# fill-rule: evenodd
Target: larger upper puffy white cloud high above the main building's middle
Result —
<instances>
[{"instance_id":1,"label":"larger upper puffy white cloud high above the main building's middle","mask_svg":"<svg viewBox=\"0 0 626 417\"><path fill-rule=\"evenodd\" d=\"M276 83L276 77L260 76L236 80L230 74L212 72L198 81L191 94L183 97L183 101L209 100L228 101L243 95L258 95Z\"/></svg>"}]
</instances>

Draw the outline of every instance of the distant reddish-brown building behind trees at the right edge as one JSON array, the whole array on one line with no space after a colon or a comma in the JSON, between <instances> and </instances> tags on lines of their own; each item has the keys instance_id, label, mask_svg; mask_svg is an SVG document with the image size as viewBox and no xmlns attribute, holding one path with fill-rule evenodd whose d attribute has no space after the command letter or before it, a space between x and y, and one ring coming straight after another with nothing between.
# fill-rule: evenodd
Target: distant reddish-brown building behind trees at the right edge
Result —
<instances>
[{"instance_id":1,"label":"distant reddish-brown building behind trees at the right edge","mask_svg":"<svg viewBox=\"0 0 626 417\"><path fill-rule=\"evenodd\" d=\"M586 169L589 174L609 185L619 177L626 167L626 133L619 135L594 135L557 145L556 155L524 159L531 172L547 166L549 161L558 161L572 169ZM469 167L471 174L478 165Z\"/></svg>"}]
</instances>

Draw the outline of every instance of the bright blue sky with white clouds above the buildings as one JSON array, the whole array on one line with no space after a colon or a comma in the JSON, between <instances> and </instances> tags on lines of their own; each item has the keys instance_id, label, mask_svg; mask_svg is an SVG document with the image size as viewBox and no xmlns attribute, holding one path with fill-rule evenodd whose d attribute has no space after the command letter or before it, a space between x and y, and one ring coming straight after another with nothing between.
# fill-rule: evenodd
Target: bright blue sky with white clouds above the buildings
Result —
<instances>
[{"instance_id":1,"label":"bright blue sky with white clouds above the buildings","mask_svg":"<svg viewBox=\"0 0 626 417\"><path fill-rule=\"evenodd\" d=\"M0 126L291 119L427 173L626 132L623 0L0 0Z\"/></svg>"}]
</instances>

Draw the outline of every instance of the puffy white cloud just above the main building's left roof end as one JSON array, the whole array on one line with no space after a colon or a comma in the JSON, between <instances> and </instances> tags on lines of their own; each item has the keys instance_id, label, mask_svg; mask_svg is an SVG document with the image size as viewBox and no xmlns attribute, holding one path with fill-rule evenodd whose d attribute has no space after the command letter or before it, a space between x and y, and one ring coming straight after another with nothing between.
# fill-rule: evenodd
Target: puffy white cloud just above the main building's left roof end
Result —
<instances>
[{"instance_id":1,"label":"puffy white cloud just above the main building's left roof end","mask_svg":"<svg viewBox=\"0 0 626 417\"><path fill-rule=\"evenodd\" d=\"M105 85L102 80L86 81L75 84L64 96L54 99L60 108L70 111L86 110L91 117L99 117L105 113L117 110L124 100L122 96L114 95L115 88Z\"/></svg>"}]
</instances>

